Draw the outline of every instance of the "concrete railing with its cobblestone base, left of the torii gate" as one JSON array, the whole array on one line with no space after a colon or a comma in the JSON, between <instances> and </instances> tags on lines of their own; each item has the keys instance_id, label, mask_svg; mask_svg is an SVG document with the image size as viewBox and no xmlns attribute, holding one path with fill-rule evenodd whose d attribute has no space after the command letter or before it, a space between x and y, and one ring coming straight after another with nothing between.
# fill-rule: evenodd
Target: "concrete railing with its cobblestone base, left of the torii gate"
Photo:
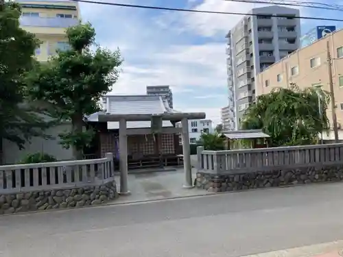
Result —
<instances>
[{"instance_id":1,"label":"concrete railing with its cobblestone base, left of the torii gate","mask_svg":"<svg viewBox=\"0 0 343 257\"><path fill-rule=\"evenodd\" d=\"M0 214L103 204L117 196L113 154L0 166Z\"/></svg>"}]
</instances>

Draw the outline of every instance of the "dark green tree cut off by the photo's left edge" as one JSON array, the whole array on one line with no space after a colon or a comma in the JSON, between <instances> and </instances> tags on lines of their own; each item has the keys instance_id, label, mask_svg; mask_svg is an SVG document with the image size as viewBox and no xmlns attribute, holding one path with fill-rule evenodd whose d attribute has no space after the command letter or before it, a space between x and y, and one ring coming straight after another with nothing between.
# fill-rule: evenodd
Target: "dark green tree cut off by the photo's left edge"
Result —
<instances>
[{"instance_id":1,"label":"dark green tree cut off by the photo's left edge","mask_svg":"<svg viewBox=\"0 0 343 257\"><path fill-rule=\"evenodd\" d=\"M23 75L36 63L38 40L19 27L18 3L1 5L0 12L0 146L3 139L23 149L32 136L44 136L45 123L38 110L25 101Z\"/></svg>"}]
</instances>

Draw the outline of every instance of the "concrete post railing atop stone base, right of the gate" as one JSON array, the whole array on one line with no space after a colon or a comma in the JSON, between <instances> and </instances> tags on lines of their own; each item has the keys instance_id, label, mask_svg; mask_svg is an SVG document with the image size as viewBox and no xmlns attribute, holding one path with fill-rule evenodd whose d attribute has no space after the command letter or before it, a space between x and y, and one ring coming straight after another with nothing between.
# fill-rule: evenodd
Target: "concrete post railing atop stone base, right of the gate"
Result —
<instances>
[{"instance_id":1,"label":"concrete post railing atop stone base, right of the gate","mask_svg":"<svg viewBox=\"0 0 343 257\"><path fill-rule=\"evenodd\" d=\"M198 171L248 173L343 164L343 144L207 151L198 147Z\"/></svg>"}]
</instances>

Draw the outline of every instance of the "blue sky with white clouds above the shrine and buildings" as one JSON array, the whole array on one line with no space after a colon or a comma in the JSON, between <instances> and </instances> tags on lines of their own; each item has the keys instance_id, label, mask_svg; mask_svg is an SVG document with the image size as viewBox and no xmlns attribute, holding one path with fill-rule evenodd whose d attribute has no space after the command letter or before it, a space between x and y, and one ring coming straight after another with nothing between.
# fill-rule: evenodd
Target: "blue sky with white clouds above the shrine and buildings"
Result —
<instances>
[{"instance_id":1,"label":"blue sky with white clouds above the shrine and buildings","mask_svg":"<svg viewBox=\"0 0 343 257\"><path fill-rule=\"evenodd\" d=\"M224 0L99 1L241 13L263 7ZM335 3L325 1L329 2ZM80 10L82 21L95 27L97 43L121 51L122 71L113 94L145 94L147 85L169 85L175 110L206 112L207 119L220 123L220 108L228 105L225 36L242 16L93 3L80 3ZM342 19L342 12L311 8L300 9L300 15ZM342 27L338 22L303 20L301 31L305 33L316 25Z\"/></svg>"}]
</instances>

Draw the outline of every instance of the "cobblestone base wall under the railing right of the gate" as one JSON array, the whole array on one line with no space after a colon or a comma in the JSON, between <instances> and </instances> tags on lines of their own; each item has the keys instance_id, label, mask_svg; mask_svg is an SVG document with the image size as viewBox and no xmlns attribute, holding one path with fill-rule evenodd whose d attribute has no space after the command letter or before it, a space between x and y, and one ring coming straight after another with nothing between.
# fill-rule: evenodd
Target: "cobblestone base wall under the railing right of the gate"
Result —
<instances>
[{"instance_id":1,"label":"cobblestone base wall under the railing right of the gate","mask_svg":"<svg viewBox=\"0 0 343 257\"><path fill-rule=\"evenodd\" d=\"M343 165L298 169L257 171L252 173L197 173L196 187L211 192L239 191L252 188L292 186L343 180Z\"/></svg>"}]
</instances>

